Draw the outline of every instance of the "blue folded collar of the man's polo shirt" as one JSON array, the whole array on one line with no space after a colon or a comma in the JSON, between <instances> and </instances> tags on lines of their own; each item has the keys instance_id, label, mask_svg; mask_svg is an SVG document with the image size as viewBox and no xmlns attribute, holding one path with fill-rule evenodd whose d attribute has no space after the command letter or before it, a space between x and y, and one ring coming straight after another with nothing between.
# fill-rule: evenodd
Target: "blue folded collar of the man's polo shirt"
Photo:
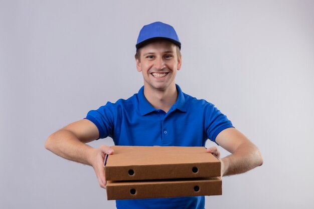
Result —
<instances>
[{"instance_id":1,"label":"blue folded collar of the man's polo shirt","mask_svg":"<svg viewBox=\"0 0 314 209\"><path fill-rule=\"evenodd\" d=\"M177 90L178 90L178 99L177 102L175 103L175 108L179 109L182 112L186 112L186 105L185 105L185 98L184 94L179 87L179 85L176 84ZM142 86L139 91L138 91L138 102L139 102L139 112L140 115L146 115L152 111L155 111L156 109L151 106L151 104L147 101L147 99L144 96L144 86Z\"/></svg>"}]
</instances>

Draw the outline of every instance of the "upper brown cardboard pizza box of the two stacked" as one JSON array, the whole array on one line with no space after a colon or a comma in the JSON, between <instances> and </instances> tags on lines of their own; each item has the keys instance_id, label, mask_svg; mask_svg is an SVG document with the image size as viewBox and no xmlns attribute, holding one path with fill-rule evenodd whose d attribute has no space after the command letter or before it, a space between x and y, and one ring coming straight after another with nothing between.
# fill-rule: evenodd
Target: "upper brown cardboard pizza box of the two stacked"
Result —
<instances>
[{"instance_id":1,"label":"upper brown cardboard pizza box of the two stacked","mask_svg":"<svg viewBox=\"0 0 314 209\"><path fill-rule=\"evenodd\" d=\"M220 176L221 162L204 147L112 146L107 180L199 178Z\"/></svg>"}]
</instances>

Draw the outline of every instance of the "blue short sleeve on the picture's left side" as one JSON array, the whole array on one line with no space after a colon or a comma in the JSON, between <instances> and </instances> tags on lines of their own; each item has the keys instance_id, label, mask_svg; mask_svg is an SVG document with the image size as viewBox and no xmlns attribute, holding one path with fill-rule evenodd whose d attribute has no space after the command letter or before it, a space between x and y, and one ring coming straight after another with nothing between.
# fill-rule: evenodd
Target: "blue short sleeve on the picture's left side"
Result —
<instances>
[{"instance_id":1,"label":"blue short sleeve on the picture's left side","mask_svg":"<svg viewBox=\"0 0 314 209\"><path fill-rule=\"evenodd\" d=\"M107 102L97 110L91 110L84 119L93 122L99 131L99 138L112 137L114 130L114 104ZM98 139L99 139L98 138Z\"/></svg>"}]
</instances>

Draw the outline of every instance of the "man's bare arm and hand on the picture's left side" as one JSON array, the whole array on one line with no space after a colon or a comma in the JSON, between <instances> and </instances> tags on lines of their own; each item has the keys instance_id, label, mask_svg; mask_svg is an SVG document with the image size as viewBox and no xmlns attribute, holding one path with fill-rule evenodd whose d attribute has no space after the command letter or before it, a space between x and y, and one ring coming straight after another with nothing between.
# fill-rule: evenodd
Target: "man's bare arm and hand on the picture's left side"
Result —
<instances>
[{"instance_id":1,"label":"man's bare arm and hand on the picture's left side","mask_svg":"<svg viewBox=\"0 0 314 209\"><path fill-rule=\"evenodd\" d=\"M93 166L99 185L105 188L104 158L106 154L113 154L113 150L106 145L95 149L85 144L98 137L96 125L83 119L51 134L46 140L45 148L63 158Z\"/></svg>"}]
</instances>

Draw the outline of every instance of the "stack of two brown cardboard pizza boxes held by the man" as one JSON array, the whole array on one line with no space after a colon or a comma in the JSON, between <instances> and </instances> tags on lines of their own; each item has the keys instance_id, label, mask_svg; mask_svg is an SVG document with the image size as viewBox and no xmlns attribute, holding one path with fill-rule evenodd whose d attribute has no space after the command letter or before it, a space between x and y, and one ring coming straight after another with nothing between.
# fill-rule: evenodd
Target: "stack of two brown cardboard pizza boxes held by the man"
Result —
<instances>
[{"instance_id":1,"label":"stack of two brown cardboard pizza boxes held by the man","mask_svg":"<svg viewBox=\"0 0 314 209\"><path fill-rule=\"evenodd\" d=\"M112 146L106 155L107 198L221 195L221 163L204 147Z\"/></svg>"}]
</instances>

